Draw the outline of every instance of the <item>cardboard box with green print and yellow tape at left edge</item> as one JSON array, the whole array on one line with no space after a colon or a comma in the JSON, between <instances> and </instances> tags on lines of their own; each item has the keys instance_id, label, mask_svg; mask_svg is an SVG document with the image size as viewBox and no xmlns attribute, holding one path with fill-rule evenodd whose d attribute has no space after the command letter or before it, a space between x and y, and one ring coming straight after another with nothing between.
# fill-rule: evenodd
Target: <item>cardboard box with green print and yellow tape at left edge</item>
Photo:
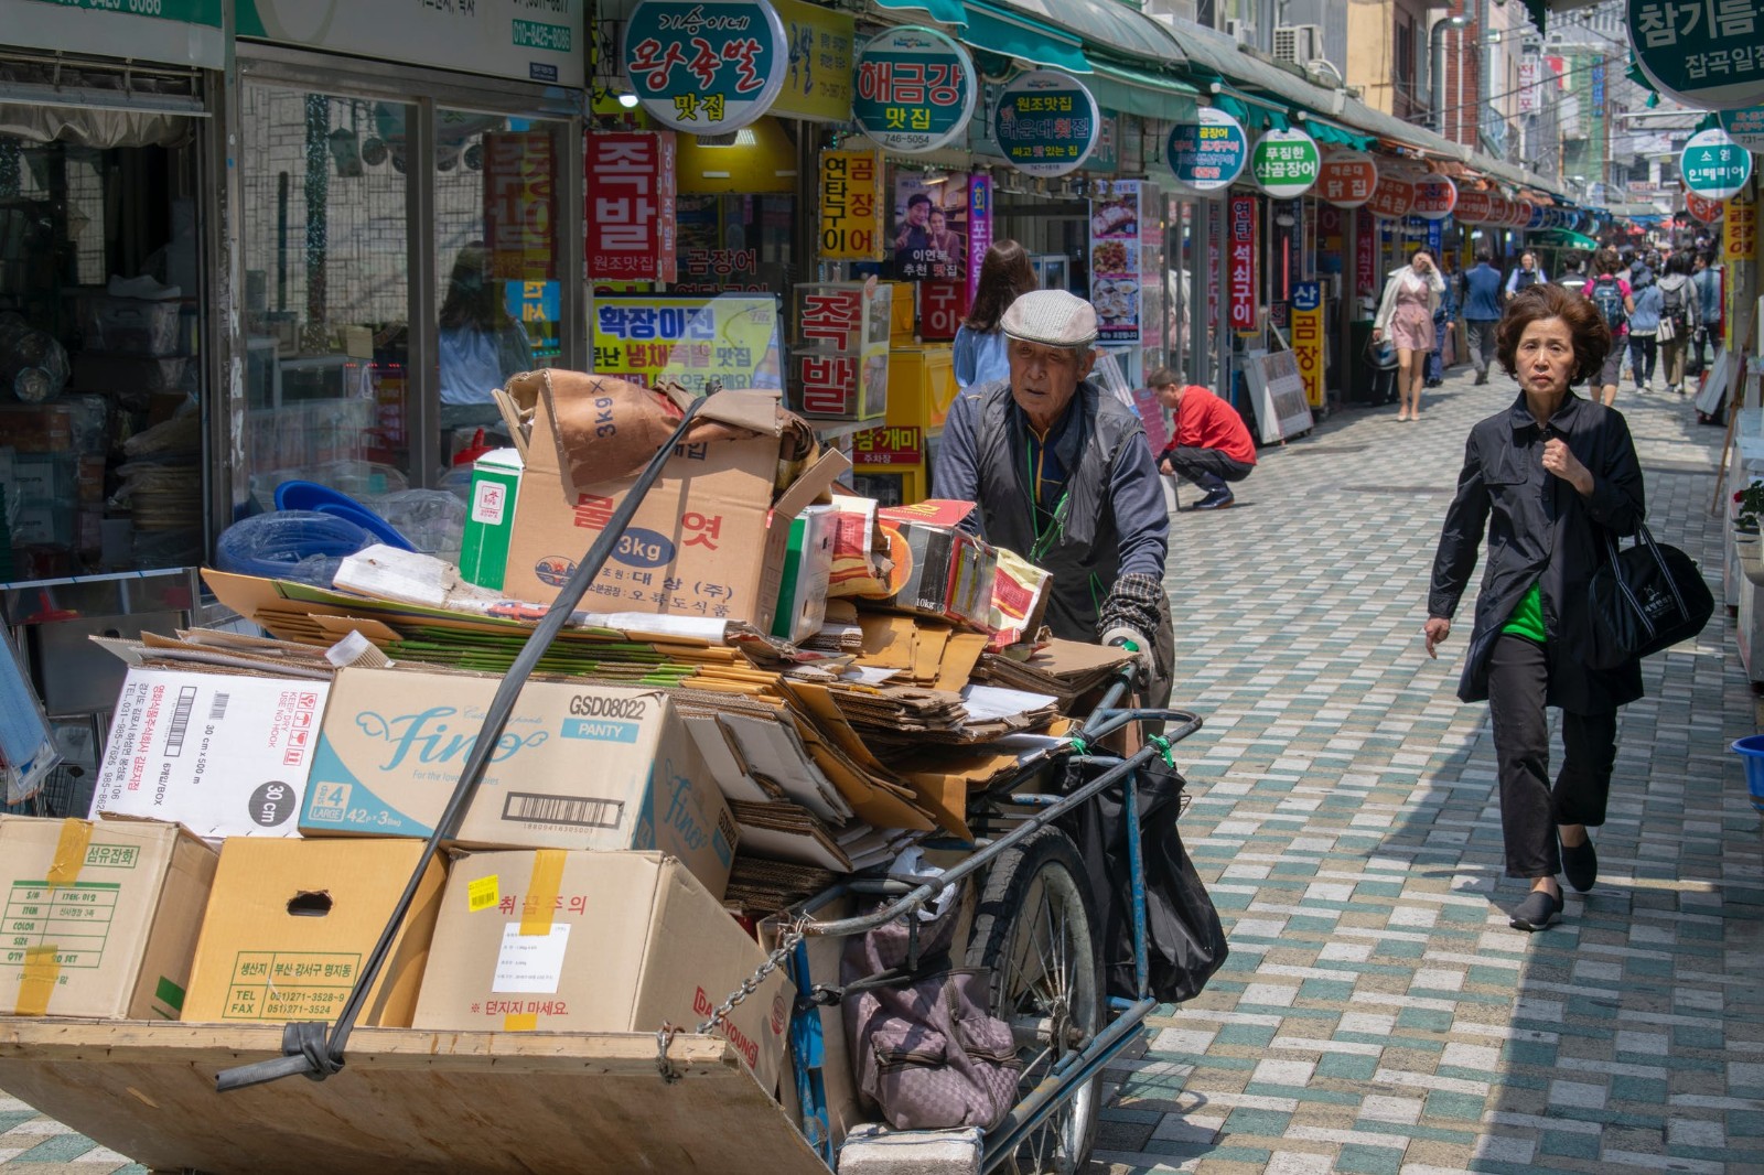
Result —
<instances>
[{"instance_id":1,"label":"cardboard box with green print and yellow tape at left edge","mask_svg":"<svg viewBox=\"0 0 1764 1175\"><path fill-rule=\"evenodd\" d=\"M176 824L0 815L0 1011L176 1020L213 875Z\"/></svg>"}]
</instances>

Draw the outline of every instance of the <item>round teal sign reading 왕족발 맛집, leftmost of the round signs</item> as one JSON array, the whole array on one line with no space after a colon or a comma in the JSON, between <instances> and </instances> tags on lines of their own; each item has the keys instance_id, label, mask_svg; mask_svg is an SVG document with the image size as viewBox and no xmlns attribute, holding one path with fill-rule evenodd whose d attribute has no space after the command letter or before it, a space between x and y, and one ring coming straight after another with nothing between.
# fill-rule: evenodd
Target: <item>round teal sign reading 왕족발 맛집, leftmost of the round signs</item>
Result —
<instances>
[{"instance_id":1,"label":"round teal sign reading \uc655\uc871\ubc1c \ub9db\uc9d1, leftmost of the round signs","mask_svg":"<svg viewBox=\"0 0 1764 1175\"><path fill-rule=\"evenodd\" d=\"M764 115L790 67L783 19L766 0L640 0L621 60L644 111L691 134Z\"/></svg>"}]
</instances>

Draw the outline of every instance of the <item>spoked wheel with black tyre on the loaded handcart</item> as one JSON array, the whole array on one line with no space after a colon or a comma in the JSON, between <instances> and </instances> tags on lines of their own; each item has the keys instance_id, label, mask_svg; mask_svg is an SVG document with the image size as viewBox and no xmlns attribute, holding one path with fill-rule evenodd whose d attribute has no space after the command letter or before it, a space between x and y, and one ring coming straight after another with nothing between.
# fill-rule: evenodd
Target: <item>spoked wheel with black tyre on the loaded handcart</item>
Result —
<instances>
[{"instance_id":1,"label":"spoked wheel with black tyre on the loaded handcart","mask_svg":"<svg viewBox=\"0 0 1764 1175\"><path fill-rule=\"evenodd\" d=\"M974 917L968 965L993 972L993 1013L1011 1025L1027 1097L1102 1030L1102 954L1083 859L1057 827L998 857ZM1074 1175L1097 1134L1101 1074L1073 1092L1002 1170Z\"/></svg>"}]
</instances>

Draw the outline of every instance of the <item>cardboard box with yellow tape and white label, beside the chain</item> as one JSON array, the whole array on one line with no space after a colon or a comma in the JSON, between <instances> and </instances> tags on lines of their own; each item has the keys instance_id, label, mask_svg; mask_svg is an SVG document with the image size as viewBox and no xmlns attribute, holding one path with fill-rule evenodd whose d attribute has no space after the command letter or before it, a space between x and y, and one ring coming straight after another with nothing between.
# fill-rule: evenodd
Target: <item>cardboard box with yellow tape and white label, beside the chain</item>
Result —
<instances>
[{"instance_id":1,"label":"cardboard box with yellow tape and white label, beside the chain","mask_svg":"<svg viewBox=\"0 0 1764 1175\"><path fill-rule=\"evenodd\" d=\"M453 863L413 1027L688 1032L766 951L654 852L482 852ZM794 988L773 972L725 1030L766 1089L783 1064Z\"/></svg>"}]
</instances>

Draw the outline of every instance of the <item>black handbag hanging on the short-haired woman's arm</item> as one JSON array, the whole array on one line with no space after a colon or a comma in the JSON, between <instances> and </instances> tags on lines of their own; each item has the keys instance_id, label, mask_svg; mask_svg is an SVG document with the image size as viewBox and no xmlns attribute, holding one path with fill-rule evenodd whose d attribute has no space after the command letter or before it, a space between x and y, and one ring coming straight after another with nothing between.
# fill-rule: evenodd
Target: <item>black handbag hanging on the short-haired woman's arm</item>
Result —
<instances>
[{"instance_id":1,"label":"black handbag hanging on the short-haired woman's arm","mask_svg":"<svg viewBox=\"0 0 1764 1175\"><path fill-rule=\"evenodd\" d=\"M1593 669L1618 669L1702 632L1715 596L1697 561L1656 543L1642 524L1633 547L1618 549L1605 531L1611 561L1593 572L1586 596L1593 614Z\"/></svg>"}]
</instances>

